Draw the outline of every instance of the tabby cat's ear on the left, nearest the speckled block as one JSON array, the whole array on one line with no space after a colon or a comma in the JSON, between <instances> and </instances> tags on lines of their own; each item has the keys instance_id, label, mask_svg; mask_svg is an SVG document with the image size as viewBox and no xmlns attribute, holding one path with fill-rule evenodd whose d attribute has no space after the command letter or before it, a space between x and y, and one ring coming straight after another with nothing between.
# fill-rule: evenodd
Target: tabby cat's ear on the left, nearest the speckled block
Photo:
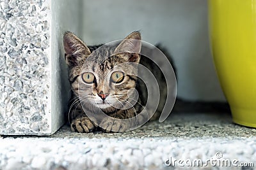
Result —
<instances>
[{"instance_id":1,"label":"tabby cat's ear on the left, nearest the speckled block","mask_svg":"<svg viewBox=\"0 0 256 170\"><path fill-rule=\"evenodd\" d=\"M77 64L84 57L91 54L89 48L72 32L65 32L63 36L65 60L68 66Z\"/></svg>"}]
</instances>

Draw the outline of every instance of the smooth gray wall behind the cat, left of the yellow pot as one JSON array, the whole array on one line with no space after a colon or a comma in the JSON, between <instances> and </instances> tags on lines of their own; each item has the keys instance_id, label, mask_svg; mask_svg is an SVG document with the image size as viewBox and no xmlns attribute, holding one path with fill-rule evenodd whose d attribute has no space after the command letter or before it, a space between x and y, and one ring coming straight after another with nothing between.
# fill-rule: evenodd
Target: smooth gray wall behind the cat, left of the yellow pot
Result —
<instances>
[{"instance_id":1,"label":"smooth gray wall behind the cat, left of the yellow pot","mask_svg":"<svg viewBox=\"0 0 256 170\"><path fill-rule=\"evenodd\" d=\"M178 72L178 96L224 101L209 49L205 0L83 1L82 38L88 45L141 31L148 43L172 53Z\"/></svg>"}]
</instances>

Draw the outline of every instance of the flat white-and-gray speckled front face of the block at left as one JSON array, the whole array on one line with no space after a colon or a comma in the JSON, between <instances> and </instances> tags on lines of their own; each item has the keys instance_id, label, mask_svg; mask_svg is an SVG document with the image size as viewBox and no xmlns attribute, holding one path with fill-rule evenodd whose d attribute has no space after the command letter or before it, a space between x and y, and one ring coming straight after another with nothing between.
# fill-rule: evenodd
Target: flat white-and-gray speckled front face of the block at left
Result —
<instances>
[{"instance_id":1,"label":"flat white-and-gray speckled front face of the block at left","mask_svg":"<svg viewBox=\"0 0 256 170\"><path fill-rule=\"evenodd\" d=\"M0 134L51 133L51 1L0 4Z\"/></svg>"}]
</instances>

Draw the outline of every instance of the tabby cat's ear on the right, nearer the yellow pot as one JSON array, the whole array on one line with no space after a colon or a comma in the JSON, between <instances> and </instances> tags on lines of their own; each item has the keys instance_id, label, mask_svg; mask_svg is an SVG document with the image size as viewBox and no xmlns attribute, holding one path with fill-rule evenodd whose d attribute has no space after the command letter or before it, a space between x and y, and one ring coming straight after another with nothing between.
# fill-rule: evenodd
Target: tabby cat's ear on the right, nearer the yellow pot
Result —
<instances>
[{"instance_id":1,"label":"tabby cat's ear on the right, nearer the yellow pot","mask_svg":"<svg viewBox=\"0 0 256 170\"><path fill-rule=\"evenodd\" d=\"M114 53L129 53L129 62L140 62L141 35L134 31L127 36L115 49ZM126 55L127 56L127 55Z\"/></svg>"}]
</instances>

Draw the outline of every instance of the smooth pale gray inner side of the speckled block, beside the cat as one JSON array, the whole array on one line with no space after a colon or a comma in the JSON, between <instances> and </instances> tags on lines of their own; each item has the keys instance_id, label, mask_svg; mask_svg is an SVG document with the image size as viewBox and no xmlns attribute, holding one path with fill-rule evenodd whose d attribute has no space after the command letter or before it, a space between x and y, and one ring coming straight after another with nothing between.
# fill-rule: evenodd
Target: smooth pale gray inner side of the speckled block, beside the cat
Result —
<instances>
[{"instance_id":1,"label":"smooth pale gray inner side of the speckled block, beside the cat","mask_svg":"<svg viewBox=\"0 0 256 170\"><path fill-rule=\"evenodd\" d=\"M80 0L52 0L51 23L51 117L52 129L55 131L64 124L63 115L67 112L70 96L70 83L68 82L68 68L65 63L63 34L72 31L79 34L81 29L80 19L83 1ZM61 76L65 75L65 76ZM57 121L58 120L58 121ZM59 122L59 124L56 124Z\"/></svg>"}]
</instances>

